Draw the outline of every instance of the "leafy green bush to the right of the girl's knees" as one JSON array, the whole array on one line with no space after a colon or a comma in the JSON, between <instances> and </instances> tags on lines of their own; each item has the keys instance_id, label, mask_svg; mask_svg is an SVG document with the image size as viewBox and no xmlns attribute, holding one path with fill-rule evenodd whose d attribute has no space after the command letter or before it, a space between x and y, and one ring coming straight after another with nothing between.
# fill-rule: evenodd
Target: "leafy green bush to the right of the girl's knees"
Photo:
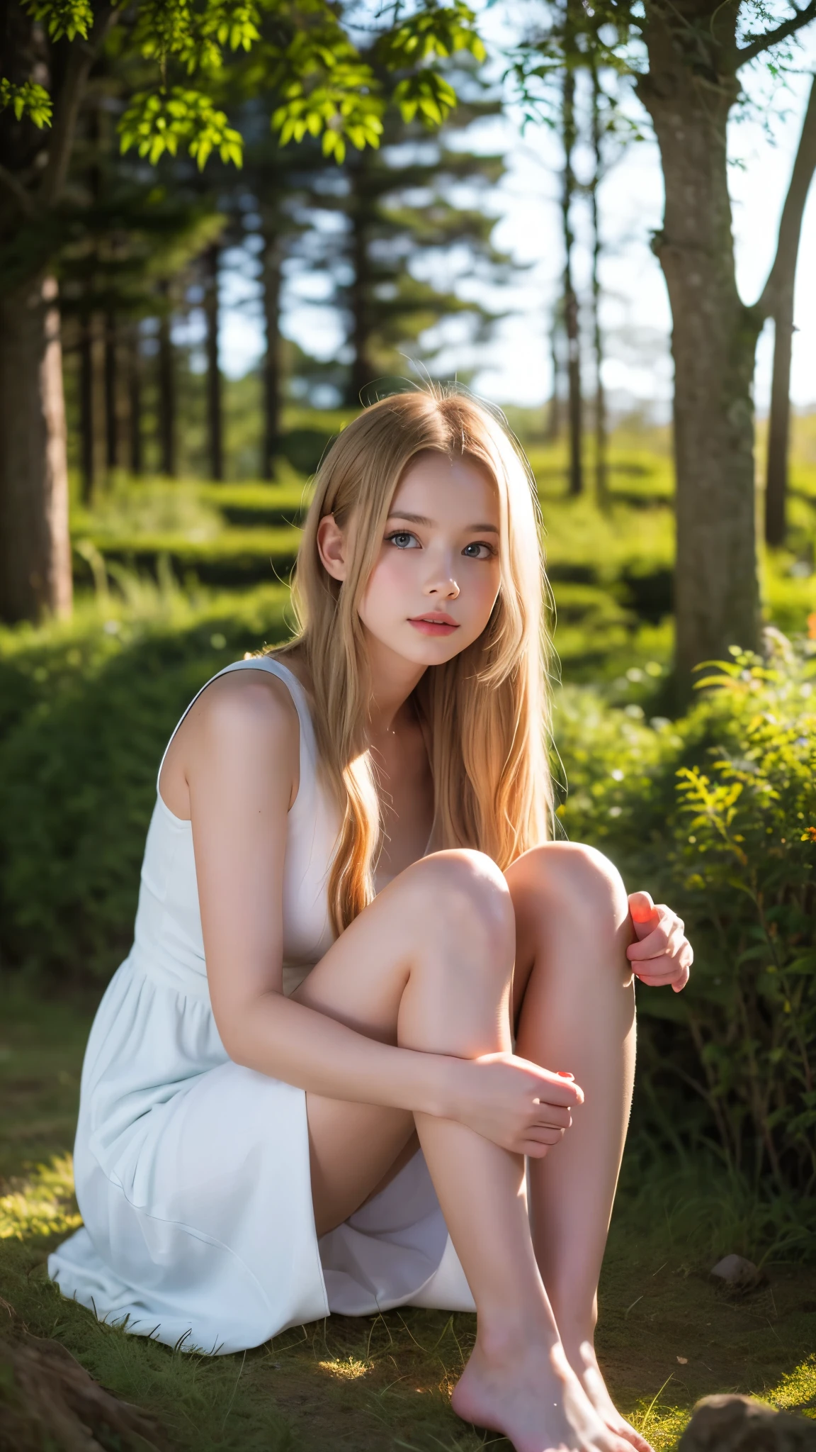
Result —
<instances>
[{"instance_id":1,"label":"leafy green bush to the right of the girl's knees","mask_svg":"<svg viewBox=\"0 0 816 1452\"><path fill-rule=\"evenodd\" d=\"M677 1150L816 1188L816 655L770 632L680 722L566 693L572 838L678 909L697 961L681 996L639 992L640 1122ZM558 717L556 717L558 723Z\"/></svg>"}]
</instances>

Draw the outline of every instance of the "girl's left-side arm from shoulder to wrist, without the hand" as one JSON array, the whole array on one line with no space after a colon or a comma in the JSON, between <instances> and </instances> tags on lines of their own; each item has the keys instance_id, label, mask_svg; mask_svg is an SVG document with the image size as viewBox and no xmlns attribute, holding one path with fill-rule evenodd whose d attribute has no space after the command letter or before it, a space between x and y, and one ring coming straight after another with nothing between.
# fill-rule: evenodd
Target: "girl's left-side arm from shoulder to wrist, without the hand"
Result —
<instances>
[{"instance_id":1,"label":"girl's left-side arm from shoulder to wrist, without the hand","mask_svg":"<svg viewBox=\"0 0 816 1452\"><path fill-rule=\"evenodd\" d=\"M283 857L299 726L285 687L247 675L215 682L183 727L208 980L224 1047L237 1063L312 1093L438 1114L452 1060L378 1043L283 998Z\"/></svg>"}]
</instances>

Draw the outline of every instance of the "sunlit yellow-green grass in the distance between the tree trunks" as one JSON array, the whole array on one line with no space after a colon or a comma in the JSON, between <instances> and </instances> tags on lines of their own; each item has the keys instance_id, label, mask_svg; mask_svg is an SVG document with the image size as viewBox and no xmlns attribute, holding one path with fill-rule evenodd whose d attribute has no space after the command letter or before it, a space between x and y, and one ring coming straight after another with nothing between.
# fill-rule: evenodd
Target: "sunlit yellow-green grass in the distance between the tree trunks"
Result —
<instances>
[{"instance_id":1,"label":"sunlit yellow-green grass in the distance between the tree trunks","mask_svg":"<svg viewBox=\"0 0 816 1452\"><path fill-rule=\"evenodd\" d=\"M340 415L314 421L330 430ZM295 420L298 427L308 418ZM765 614L786 633L816 610L816 460L810 418L796 420L790 547L767 552ZM547 571L558 611L563 678L614 681L629 665L672 652L674 481L666 430L619 431L610 446L610 504L588 489L565 495L565 443L531 443L546 527ZM76 495L76 488L74 488ZM93 510L74 498L71 530L80 591L107 588L123 572L171 572L187 592L244 591L287 579L309 498L305 475L282 462L270 484L193 479L128 481L119 475Z\"/></svg>"}]
</instances>

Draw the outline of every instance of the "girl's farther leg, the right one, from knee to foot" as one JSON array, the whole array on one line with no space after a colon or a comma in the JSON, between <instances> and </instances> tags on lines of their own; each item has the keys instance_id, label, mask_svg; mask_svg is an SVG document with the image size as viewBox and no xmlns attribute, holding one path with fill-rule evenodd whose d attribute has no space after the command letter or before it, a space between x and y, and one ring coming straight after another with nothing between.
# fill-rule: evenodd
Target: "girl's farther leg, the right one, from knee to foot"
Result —
<instances>
[{"instance_id":1,"label":"girl's farther leg, the right one, from knee to foot","mask_svg":"<svg viewBox=\"0 0 816 1452\"><path fill-rule=\"evenodd\" d=\"M592 1349L635 1077L626 890L600 852L572 844L524 854L507 881L517 925L517 1053L571 1070L585 1093L563 1141L530 1162L536 1259L566 1356L592 1404L608 1426L646 1449L616 1410Z\"/></svg>"}]
</instances>

